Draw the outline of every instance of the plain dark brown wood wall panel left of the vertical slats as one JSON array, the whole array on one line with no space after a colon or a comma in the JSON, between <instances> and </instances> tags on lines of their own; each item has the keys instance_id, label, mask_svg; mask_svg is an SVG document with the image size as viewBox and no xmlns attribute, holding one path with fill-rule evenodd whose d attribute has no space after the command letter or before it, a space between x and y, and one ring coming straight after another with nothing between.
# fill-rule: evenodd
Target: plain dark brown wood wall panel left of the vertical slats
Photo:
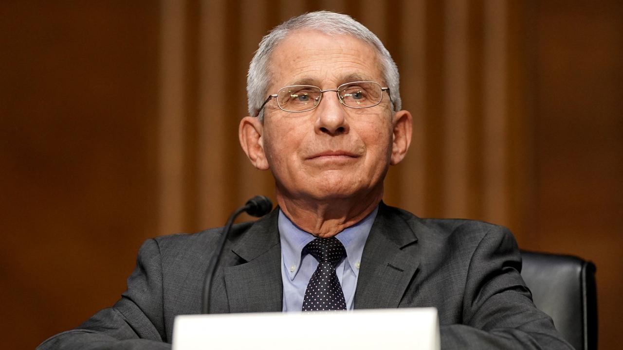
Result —
<instances>
[{"instance_id":1,"label":"plain dark brown wood wall panel left of the vertical slats","mask_svg":"<svg viewBox=\"0 0 623 350\"><path fill-rule=\"evenodd\" d=\"M158 232L150 4L0 2L2 348L112 305Z\"/></svg>"}]
</instances>

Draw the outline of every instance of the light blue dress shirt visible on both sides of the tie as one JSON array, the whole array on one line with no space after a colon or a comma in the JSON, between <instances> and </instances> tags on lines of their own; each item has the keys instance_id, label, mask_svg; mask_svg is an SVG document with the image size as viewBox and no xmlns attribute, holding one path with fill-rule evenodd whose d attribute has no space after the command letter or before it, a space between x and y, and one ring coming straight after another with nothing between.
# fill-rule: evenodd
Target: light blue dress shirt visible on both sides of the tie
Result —
<instances>
[{"instance_id":1,"label":"light blue dress shirt visible on both sides of the tie","mask_svg":"<svg viewBox=\"0 0 623 350\"><path fill-rule=\"evenodd\" d=\"M346 258L335 268L344 291L346 310L353 310L354 291L359 277L359 263L368 234L376 218L378 207L363 220L342 230L335 238L346 248ZM314 237L299 229L279 210L279 237L281 240L281 278L283 280L283 311L301 311L307 283L318 267L318 260L303 248Z\"/></svg>"}]
</instances>

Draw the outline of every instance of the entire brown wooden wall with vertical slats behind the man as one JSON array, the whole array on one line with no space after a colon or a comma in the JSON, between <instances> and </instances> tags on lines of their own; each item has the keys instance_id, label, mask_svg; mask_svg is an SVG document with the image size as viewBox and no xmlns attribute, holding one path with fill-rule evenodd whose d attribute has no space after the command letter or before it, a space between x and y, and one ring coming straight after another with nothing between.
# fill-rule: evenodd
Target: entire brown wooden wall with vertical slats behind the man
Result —
<instances>
[{"instance_id":1,"label":"entire brown wooden wall with vertical slats behind the man","mask_svg":"<svg viewBox=\"0 0 623 350\"><path fill-rule=\"evenodd\" d=\"M620 1L3 1L0 329L33 348L117 300L148 237L221 225L270 174L237 142L271 27L343 11L401 70L414 142L386 202L597 265L623 318Z\"/></svg>"}]
</instances>

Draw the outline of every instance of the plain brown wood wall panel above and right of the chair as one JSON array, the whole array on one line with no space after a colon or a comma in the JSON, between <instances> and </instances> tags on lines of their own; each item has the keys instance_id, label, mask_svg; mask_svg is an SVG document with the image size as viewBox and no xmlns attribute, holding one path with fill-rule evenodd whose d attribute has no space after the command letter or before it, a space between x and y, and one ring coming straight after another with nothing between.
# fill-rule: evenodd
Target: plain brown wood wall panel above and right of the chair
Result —
<instances>
[{"instance_id":1,"label":"plain brown wood wall panel above and right of the chair","mask_svg":"<svg viewBox=\"0 0 623 350\"><path fill-rule=\"evenodd\" d=\"M533 10L534 230L525 244L597 265L599 348L623 321L623 2Z\"/></svg>"}]
</instances>

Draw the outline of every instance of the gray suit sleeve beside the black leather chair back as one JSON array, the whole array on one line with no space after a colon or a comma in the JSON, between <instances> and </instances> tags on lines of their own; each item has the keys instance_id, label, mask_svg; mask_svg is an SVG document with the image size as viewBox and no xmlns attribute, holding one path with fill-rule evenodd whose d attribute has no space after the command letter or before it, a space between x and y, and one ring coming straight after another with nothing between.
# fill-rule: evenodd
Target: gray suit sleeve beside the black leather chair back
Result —
<instances>
[{"instance_id":1,"label":"gray suit sleeve beside the black leather chair back","mask_svg":"<svg viewBox=\"0 0 623 350\"><path fill-rule=\"evenodd\" d=\"M521 278L513 235L495 226L470 258L463 324L441 326L443 349L571 349L538 310Z\"/></svg>"}]
</instances>

